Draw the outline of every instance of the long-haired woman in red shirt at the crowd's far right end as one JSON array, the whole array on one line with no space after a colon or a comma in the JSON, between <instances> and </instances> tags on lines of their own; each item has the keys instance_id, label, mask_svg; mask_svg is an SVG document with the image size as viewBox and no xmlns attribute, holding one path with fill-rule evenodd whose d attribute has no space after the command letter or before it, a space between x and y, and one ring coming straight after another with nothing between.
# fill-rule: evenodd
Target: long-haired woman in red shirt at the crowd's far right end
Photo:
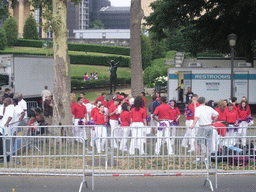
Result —
<instances>
[{"instance_id":1,"label":"long-haired woman in red shirt at the crowd's far right end","mask_svg":"<svg viewBox=\"0 0 256 192\"><path fill-rule=\"evenodd\" d=\"M249 109L249 105L248 105L247 101L244 101L244 100L241 101L239 107L237 107L237 113L238 113L240 120L242 121L240 123L240 127L238 129L238 135L246 136L247 127L249 124L246 120L248 117L251 116L251 110ZM245 137L242 138L242 145L243 146L246 145Z\"/></svg>"}]
</instances>

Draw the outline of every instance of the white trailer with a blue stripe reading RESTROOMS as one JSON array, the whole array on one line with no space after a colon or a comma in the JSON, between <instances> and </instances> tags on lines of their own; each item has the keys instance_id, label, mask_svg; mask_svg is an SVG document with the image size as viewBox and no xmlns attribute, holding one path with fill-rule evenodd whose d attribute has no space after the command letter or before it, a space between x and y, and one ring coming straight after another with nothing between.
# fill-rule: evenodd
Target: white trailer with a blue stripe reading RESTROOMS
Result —
<instances>
[{"instance_id":1,"label":"white trailer with a blue stripe reading RESTROOMS","mask_svg":"<svg viewBox=\"0 0 256 192\"><path fill-rule=\"evenodd\" d=\"M215 61L216 62L216 61ZM223 64L223 63L222 63ZM248 63L235 63L233 87L234 96L238 102L245 96L249 104L256 104L256 68ZM183 84L183 85L182 85ZM204 66L204 63L194 62L180 68L168 69L168 98L178 100L177 87L183 88L184 93L191 87L194 94L204 96L206 101L213 100L218 103L220 99L230 99L231 96L231 69L229 66Z\"/></svg>"}]
</instances>

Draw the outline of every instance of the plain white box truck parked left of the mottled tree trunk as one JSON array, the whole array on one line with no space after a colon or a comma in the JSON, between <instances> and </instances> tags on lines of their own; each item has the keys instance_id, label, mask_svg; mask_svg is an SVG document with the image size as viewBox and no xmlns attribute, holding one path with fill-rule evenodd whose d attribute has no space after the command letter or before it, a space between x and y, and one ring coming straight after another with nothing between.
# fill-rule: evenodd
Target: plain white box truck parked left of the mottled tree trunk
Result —
<instances>
[{"instance_id":1,"label":"plain white box truck parked left of the mottled tree trunk","mask_svg":"<svg viewBox=\"0 0 256 192\"><path fill-rule=\"evenodd\" d=\"M0 55L0 95L9 88L26 100L38 100L45 85L53 90L53 64L45 56Z\"/></svg>"}]
</instances>

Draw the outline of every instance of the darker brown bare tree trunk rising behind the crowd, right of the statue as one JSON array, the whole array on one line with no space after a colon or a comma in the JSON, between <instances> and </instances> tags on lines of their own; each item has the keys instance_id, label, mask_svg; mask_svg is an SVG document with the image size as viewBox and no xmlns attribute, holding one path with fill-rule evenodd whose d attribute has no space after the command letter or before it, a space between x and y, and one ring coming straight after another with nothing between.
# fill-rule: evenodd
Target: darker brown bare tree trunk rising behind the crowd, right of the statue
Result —
<instances>
[{"instance_id":1,"label":"darker brown bare tree trunk rising behind the crowd, right of the statue","mask_svg":"<svg viewBox=\"0 0 256 192\"><path fill-rule=\"evenodd\" d=\"M142 59L141 59L141 19L144 13L141 9L141 0L131 1L131 17L130 17L130 47L131 47L131 89L132 96L136 97L140 92L144 91L142 77Z\"/></svg>"}]
</instances>

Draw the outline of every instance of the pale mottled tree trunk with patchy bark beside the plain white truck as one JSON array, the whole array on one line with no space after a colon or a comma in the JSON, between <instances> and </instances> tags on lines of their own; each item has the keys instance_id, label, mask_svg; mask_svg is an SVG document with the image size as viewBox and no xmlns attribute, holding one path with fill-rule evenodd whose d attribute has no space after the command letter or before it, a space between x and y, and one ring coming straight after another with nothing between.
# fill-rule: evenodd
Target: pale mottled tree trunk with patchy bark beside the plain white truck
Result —
<instances>
[{"instance_id":1,"label":"pale mottled tree trunk with patchy bark beside the plain white truck","mask_svg":"<svg viewBox=\"0 0 256 192\"><path fill-rule=\"evenodd\" d=\"M53 29L53 124L72 125L70 63L67 43L67 0L53 0L53 18L55 21L59 21L57 29Z\"/></svg>"}]
</instances>

